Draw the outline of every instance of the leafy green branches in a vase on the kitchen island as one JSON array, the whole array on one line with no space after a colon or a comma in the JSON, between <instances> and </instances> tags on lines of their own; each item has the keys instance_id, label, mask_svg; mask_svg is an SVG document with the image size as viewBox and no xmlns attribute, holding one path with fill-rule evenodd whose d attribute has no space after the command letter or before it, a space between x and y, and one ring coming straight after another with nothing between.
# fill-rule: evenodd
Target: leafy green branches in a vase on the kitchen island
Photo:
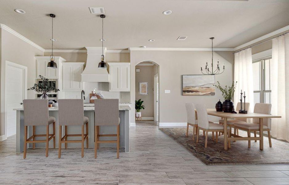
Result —
<instances>
[{"instance_id":1,"label":"leafy green branches in a vase on the kitchen island","mask_svg":"<svg viewBox=\"0 0 289 185\"><path fill-rule=\"evenodd\" d=\"M51 91L58 92L59 91L59 89L48 86L49 79L47 79L41 75L39 75L39 77L41 78L42 82L38 83L38 84L34 84L33 87L31 87L27 90L34 90L36 92L41 92L42 95L41 95L40 99L48 99L47 92L51 92Z\"/></svg>"}]
</instances>

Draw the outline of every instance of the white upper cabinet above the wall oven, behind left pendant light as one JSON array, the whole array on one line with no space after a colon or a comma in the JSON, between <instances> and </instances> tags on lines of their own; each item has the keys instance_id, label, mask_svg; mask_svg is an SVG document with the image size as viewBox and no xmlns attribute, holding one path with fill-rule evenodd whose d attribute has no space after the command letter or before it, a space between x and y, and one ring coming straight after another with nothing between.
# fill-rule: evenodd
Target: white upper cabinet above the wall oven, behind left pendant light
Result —
<instances>
[{"instance_id":1,"label":"white upper cabinet above the wall oven, behind left pendant light","mask_svg":"<svg viewBox=\"0 0 289 185\"><path fill-rule=\"evenodd\" d=\"M66 60L60 56L55 56L55 63L57 64L57 69L47 68L48 62L50 62L50 56L35 56L36 60L36 78L39 78L39 75L44 76L49 79L59 78L59 65Z\"/></svg>"}]
</instances>

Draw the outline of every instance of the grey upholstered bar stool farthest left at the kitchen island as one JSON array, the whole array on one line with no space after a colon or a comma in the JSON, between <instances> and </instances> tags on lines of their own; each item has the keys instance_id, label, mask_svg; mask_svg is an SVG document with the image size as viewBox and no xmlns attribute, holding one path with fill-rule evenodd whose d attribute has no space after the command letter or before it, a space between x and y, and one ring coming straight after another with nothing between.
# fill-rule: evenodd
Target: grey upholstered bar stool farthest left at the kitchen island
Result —
<instances>
[{"instance_id":1,"label":"grey upholstered bar stool farthest left at the kitchen island","mask_svg":"<svg viewBox=\"0 0 289 185\"><path fill-rule=\"evenodd\" d=\"M46 142L46 157L48 157L48 144L51 139L53 139L53 148L55 148L55 117L49 116L48 100L23 100L23 106L25 126L23 158L26 158L27 143L32 143L33 149L35 149L35 143L40 142ZM53 134L49 134L49 125L51 123L53 124ZM32 136L27 139L28 126L32 126ZM35 134L36 126L46 126L46 134ZM35 140L36 137L46 137L46 139Z\"/></svg>"}]
</instances>

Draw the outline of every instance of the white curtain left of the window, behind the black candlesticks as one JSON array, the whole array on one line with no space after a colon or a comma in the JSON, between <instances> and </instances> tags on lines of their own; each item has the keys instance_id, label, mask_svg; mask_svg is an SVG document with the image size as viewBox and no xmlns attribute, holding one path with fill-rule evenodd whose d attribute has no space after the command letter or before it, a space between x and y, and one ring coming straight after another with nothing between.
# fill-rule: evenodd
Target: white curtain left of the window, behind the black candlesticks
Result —
<instances>
[{"instance_id":1,"label":"white curtain left of the window, behind the black candlesticks","mask_svg":"<svg viewBox=\"0 0 289 185\"><path fill-rule=\"evenodd\" d=\"M235 53L234 81L237 81L234 93L234 105L240 101L241 89L246 92L246 102L250 103L248 112L254 110L253 65L251 48ZM244 96L244 94L243 94ZM244 102L244 98L243 98ZM243 107L244 109L244 107ZM238 110L236 110L237 112Z\"/></svg>"}]
</instances>

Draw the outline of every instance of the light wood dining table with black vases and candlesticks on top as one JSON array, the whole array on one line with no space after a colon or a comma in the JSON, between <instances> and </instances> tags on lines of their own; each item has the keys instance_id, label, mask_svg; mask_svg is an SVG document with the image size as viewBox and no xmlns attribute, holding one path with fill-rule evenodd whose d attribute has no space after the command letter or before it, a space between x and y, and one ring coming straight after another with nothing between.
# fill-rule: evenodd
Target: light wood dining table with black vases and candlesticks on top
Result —
<instances>
[{"instance_id":1,"label":"light wood dining table with black vases and candlesticks on top","mask_svg":"<svg viewBox=\"0 0 289 185\"><path fill-rule=\"evenodd\" d=\"M249 140L260 140L260 150L263 150L263 118L281 118L281 116L275 116L271 114L260 114L260 113L247 113L247 114L232 114L217 112L216 109L207 109L208 115L218 116L224 119L224 149L228 150L231 147L231 141L249 141ZM197 119L197 111L195 110ZM259 119L259 137L242 137L236 134L227 135L227 119L228 118L258 118ZM225 134L226 133L226 134ZM232 137L233 136L233 137Z\"/></svg>"}]
</instances>

